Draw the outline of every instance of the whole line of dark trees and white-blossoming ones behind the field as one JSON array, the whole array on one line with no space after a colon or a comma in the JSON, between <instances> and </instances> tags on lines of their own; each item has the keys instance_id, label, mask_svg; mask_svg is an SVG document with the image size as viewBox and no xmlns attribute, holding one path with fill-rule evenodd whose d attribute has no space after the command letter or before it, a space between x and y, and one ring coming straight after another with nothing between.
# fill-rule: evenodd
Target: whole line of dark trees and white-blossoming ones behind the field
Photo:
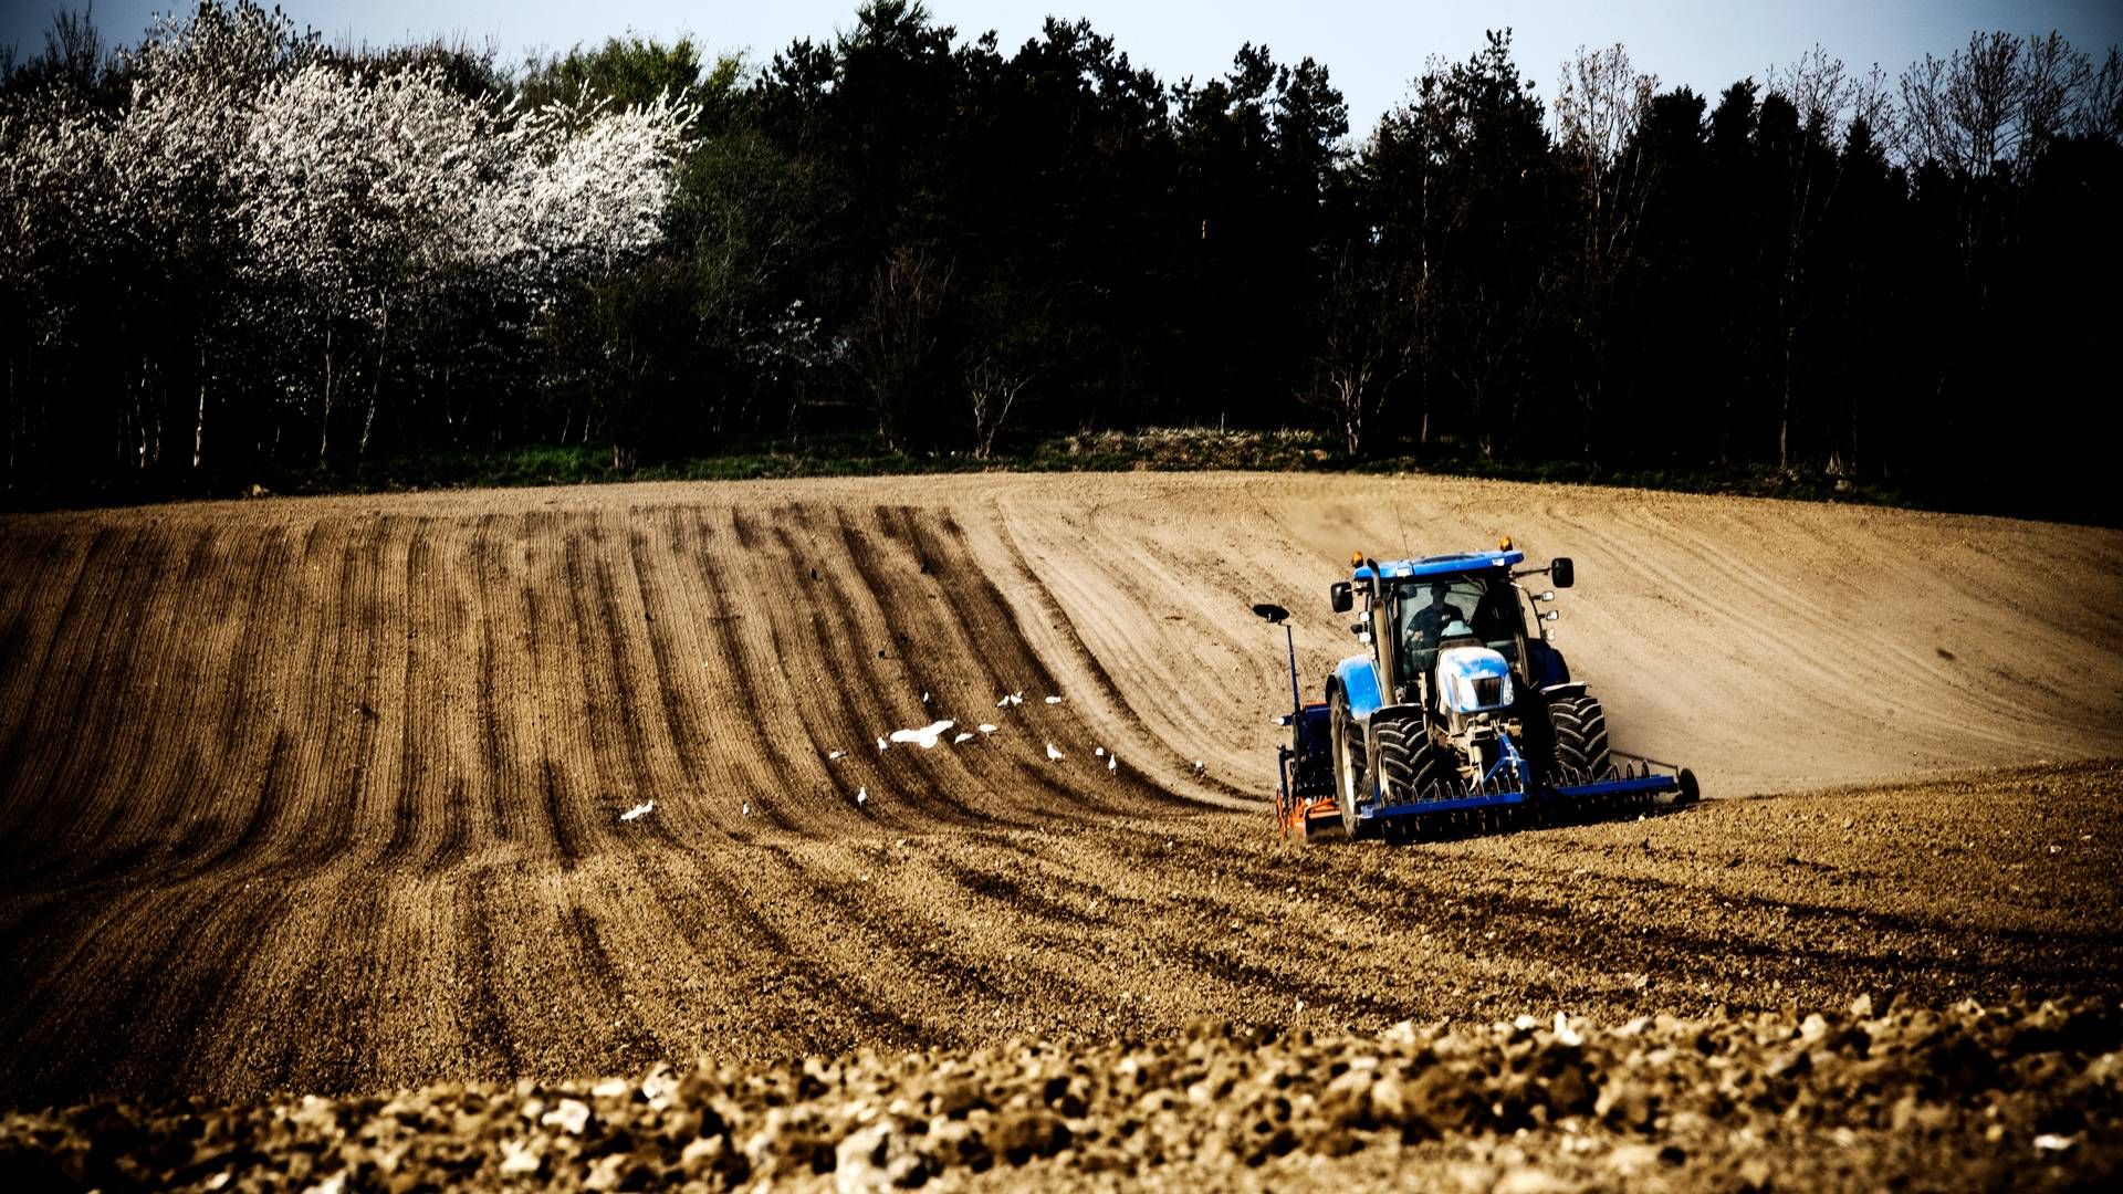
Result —
<instances>
[{"instance_id":1,"label":"whole line of dark trees and white-blossoming ones behind the field","mask_svg":"<svg viewBox=\"0 0 2123 1194\"><path fill-rule=\"evenodd\" d=\"M2119 210L2123 64L2055 34L1701 96L1492 32L1352 134L1310 57L907 0L762 64L62 13L0 51L6 487L1221 425L2083 516Z\"/></svg>"}]
</instances>

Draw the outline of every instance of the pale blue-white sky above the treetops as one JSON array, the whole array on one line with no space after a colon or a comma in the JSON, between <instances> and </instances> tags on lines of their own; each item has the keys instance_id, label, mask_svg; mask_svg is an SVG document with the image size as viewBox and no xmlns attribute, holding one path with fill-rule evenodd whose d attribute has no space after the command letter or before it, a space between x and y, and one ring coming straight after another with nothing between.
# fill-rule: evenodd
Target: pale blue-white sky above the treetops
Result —
<instances>
[{"instance_id":1,"label":"pale blue-white sky above the treetops","mask_svg":"<svg viewBox=\"0 0 2123 1194\"><path fill-rule=\"evenodd\" d=\"M327 42L391 45L465 36L493 42L505 62L565 51L628 30L690 34L709 55L741 51L764 64L800 36L830 38L853 25L858 0L278 0ZM1314 57L1348 100L1350 130L1369 132L1408 93L1433 55L1465 59L1482 32L1509 25L1514 59L1541 98L1577 47L1622 42L1639 72L1662 87L1715 98L1730 83L1788 66L1822 45L1858 70L1875 62L1889 81L1926 53L1945 57L1974 30L2057 30L2100 59L2123 45L2123 0L926 0L962 38L996 30L1002 51L1034 38L1053 13L1087 17L1138 68L1166 83L1223 74L1244 42L1276 62ZM23 57L45 45L57 0L0 0L0 45ZM70 4L68 4L70 6ZM172 0L100 0L106 45L138 42L151 13ZM180 4L178 4L180 6ZM267 0L270 6L270 0Z\"/></svg>"}]
</instances>

